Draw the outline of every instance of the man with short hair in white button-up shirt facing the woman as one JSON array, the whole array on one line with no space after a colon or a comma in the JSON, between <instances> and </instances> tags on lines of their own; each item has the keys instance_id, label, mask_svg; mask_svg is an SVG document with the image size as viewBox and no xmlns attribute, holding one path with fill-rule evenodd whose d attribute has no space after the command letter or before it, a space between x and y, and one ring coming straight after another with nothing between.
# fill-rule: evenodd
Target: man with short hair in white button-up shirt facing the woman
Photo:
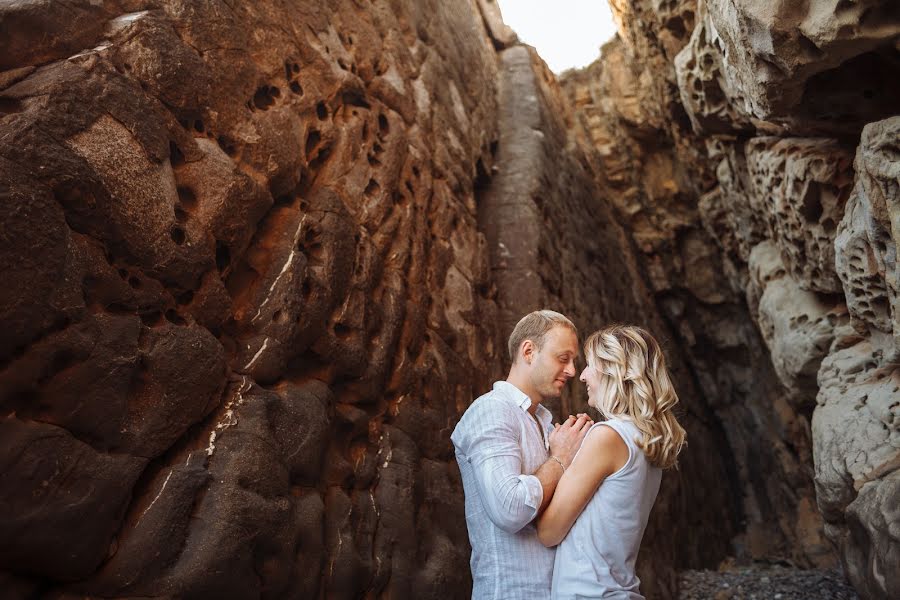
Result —
<instances>
[{"instance_id":1,"label":"man with short hair in white button-up shirt facing the woman","mask_svg":"<svg viewBox=\"0 0 900 600\"><path fill-rule=\"evenodd\" d=\"M475 400L451 436L476 600L550 597L555 551L538 540L534 520L591 425L579 415L551 427L541 406L575 376L578 336L569 319L551 310L526 315L509 337L509 355L506 381Z\"/></svg>"}]
</instances>

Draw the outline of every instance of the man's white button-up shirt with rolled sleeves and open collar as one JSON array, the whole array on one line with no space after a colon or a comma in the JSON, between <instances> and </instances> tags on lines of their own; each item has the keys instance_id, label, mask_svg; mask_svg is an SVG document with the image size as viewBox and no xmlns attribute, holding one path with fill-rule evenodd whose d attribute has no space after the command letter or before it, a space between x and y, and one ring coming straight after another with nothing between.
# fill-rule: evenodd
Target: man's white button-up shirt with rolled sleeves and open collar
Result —
<instances>
[{"instance_id":1,"label":"man's white button-up shirt with rolled sleeves and open collar","mask_svg":"<svg viewBox=\"0 0 900 600\"><path fill-rule=\"evenodd\" d=\"M544 491L533 473L550 456L552 416L538 405L535 421L530 407L521 390L498 381L450 438L466 494L474 600L550 597L555 550L537 537Z\"/></svg>"}]
</instances>

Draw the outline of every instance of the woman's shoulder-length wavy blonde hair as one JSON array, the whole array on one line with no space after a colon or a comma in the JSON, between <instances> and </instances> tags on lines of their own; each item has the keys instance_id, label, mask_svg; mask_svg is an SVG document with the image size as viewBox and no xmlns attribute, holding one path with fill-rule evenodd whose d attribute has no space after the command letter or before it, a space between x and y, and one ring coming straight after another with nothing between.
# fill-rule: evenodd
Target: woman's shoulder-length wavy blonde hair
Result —
<instances>
[{"instance_id":1,"label":"woman's shoulder-length wavy blonde hair","mask_svg":"<svg viewBox=\"0 0 900 600\"><path fill-rule=\"evenodd\" d=\"M653 336L633 325L611 325L591 334L584 353L601 379L608 378L598 390L597 408L606 418L625 418L637 426L641 439L635 442L650 464L677 466L685 432L672 412L678 396Z\"/></svg>"}]
</instances>

